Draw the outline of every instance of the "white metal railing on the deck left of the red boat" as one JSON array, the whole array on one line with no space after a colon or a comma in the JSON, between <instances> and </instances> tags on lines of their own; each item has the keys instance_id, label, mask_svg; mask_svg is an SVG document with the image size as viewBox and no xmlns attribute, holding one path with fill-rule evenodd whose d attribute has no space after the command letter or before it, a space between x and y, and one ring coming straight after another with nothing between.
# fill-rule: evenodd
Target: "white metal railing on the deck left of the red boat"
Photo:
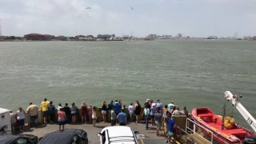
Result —
<instances>
[{"instance_id":1,"label":"white metal railing on the deck left of the red boat","mask_svg":"<svg viewBox=\"0 0 256 144\"><path fill-rule=\"evenodd\" d=\"M189 122L192 122L192 123L194 124L194 125L193 125L193 127L194 127L193 130L191 130L190 127L188 126L188 125L189 125ZM193 134L198 134L198 133L196 133L196 131L195 131L196 126L199 126L200 128L202 128L202 129L206 130L208 133L210 133L210 134L211 134L210 141L209 141L208 139L206 139L206 138L204 138L204 139L205 139L206 141L210 142L210 143L214 143L214 133L213 133L212 131L207 130L204 126L199 125L198 123L192 121L190 118L186 118L186 134L188 134L187 130L192 131ZM203 138L202 135L200 135L200 134L198 134L198 136L200 136L201 138Z\"/></svg>"}]
</instances>

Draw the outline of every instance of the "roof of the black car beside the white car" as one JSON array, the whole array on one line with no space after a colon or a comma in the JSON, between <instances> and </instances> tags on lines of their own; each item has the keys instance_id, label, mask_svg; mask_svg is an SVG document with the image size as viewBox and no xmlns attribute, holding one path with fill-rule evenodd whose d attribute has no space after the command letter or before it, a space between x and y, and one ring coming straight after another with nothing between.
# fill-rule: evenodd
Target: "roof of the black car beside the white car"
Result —
<instances>
[{"instance_id":1,"label":"roof of the black car beside the white car","mask_svg":"<svg viewBox=\"0 0 256 144\"><path fill-rule=\"evenodd\" d=\"M46 134L39 143L41 144L65 144L70 143L76 134L70 133L51 133Z\"/></svg>"}]
</instances>

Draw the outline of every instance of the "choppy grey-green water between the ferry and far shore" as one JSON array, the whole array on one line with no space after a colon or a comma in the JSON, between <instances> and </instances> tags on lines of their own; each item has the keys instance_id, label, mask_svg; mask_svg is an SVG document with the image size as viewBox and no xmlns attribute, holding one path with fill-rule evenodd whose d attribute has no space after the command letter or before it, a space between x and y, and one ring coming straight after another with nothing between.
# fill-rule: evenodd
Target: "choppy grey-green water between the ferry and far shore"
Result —
<instances>
[{"instance_id":1,"label":"choppy grey-green water between the ferry and far shore","mask_svg":"<svg viewBox=\"0 0 256 144\"><path fill-rule=\"evenodd\" d=\"M255 63L247 41L0 42L0 107L153 98L221 114L230 90L255 117Z\"/></svg>"}]
</instances>

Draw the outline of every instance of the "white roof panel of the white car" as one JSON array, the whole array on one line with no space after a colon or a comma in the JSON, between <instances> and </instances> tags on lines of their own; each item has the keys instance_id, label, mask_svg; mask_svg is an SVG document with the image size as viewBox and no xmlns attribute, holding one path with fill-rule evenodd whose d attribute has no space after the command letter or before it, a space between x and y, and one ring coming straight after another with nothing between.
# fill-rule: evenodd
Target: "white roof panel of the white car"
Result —
<instances>
[{"instance_id":1,"label":"white roof panel of the white car","mask_svg":"<svg viewBox=\"0 0 256 144\"><path fill-rule=\"evenodd\" d=\"M108 131L109 138L134 137L133 130L129 126L109 126L103 130Z\"/></svg>"}]
</instances>

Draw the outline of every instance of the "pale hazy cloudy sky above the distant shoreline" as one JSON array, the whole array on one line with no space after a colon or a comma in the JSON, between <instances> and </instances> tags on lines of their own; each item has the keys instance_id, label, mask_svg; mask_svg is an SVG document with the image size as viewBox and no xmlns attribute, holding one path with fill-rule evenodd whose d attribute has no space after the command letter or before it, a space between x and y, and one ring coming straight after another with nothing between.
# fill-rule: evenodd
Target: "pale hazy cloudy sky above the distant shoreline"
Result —
<instances>
[{"instance_id":1,"label":"pale hazy cloudy sky above the distant shoreline","mask_svg":"<svg viewBox=\"0 0 256 144\"><path fill-rule=\"evenodd\" d=\"M256 35L255 7L256 0L0 0L0 19L2 35L15 36L242 37Z\"/></svg>"}]
</instances>

